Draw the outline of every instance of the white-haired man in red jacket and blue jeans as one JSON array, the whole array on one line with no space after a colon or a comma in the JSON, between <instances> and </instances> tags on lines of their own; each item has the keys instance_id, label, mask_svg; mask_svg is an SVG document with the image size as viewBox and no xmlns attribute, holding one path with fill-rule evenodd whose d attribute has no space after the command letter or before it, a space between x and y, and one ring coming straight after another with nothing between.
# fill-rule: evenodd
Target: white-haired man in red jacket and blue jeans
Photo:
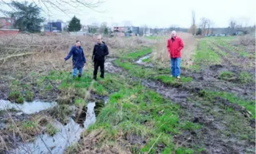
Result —
<instances>
[{"instance_id":1,"label":"white-haired man in red jacket and blue jeans","mask_svg":"<svg viewBox=\"0 0 256 154\"><path fill-rule=\"evenodd\" d=\"M171 58L171 76L180 79L180 58L184 43L177 36L176 31L171 32L171 38L167 41L167 49Z\"/></svg>"}]
</instances>

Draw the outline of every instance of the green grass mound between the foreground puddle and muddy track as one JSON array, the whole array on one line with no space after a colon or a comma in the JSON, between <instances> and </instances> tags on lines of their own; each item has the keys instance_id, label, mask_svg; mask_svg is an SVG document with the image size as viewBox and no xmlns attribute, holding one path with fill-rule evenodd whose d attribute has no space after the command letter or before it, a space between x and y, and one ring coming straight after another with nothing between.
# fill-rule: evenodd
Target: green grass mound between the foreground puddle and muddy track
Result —
<instances>
[{"instance_id":1,"label":"green grass mound between the foreground puddle and muddy track","mask_svg":"<svg viewBox=\"0 0 256 154\"><path fill-rule=\"evenodd\" d=\"M170 153L175 150L171 140L173 135L185 129L200 128L188 122L180 125L179 110L179 105L174 105L157 92L139 84L121 88L109 96L109 102L99 112L96 123L85 130L82 137L101 132L94 138L99 138L95 145L95 148L99 148L102 145L118 145L120 142L122 145L132 135L141 140L140 144L132 146L132 153L155 153L159 144L165 145L163 153ZM86 146L85 143L80 142L80 148ZM183 148L182 151L187 153L190 150Z\"/></svg>"}]
</instances>

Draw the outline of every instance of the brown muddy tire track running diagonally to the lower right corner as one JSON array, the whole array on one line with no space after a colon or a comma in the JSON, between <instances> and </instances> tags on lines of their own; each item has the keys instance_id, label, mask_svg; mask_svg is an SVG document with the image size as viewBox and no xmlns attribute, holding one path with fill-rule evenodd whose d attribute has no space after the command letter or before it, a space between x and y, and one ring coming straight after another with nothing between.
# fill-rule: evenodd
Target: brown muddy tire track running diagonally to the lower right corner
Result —
<instances>
[{"instance_id":1,"label":"brown muddy tire track running diagonally to the lower right corner","mask_svg":"<svg viewBox=\"0 0 256 154\"><path fill-rule=\"evenodd\" d=\"M121 69L110 62L112 68L116 70ZM122 73L129 76L129 73L121 69ZM198 97L200 88L193 88L189 86L180 86L173 88L165 85L161 82L150 81L148 79L134 78L134 81L141 81L141 84L147 88L154 89L156 92L164 96L164 98L170 99L174 103L179 103L181 108L184 109L185 113L180 115L181 120L189 120L190 122L200 123L203 128L198 131L184 131L181 135L174 136L174 142L184 143L187 148L195 148L203 146L206 151L203 153L245 153L248 149L254 149L255 142L241 141L238 136L232 136L229 138L223 135L222 131L229 130L226 122L222 122L222 117L219 115L210 114L210 110L214 109L218 113L225 113L226 107L231 106L237 111L240 111L240 107L228 102L225 99L216 98L212 105L205 106L196 101L189 101L187 98L202 99ZM202 100L203 101L203 100ZM221 106L225 106L222 108ZM239 112L240 113L240 112ZM244 119L244 125L253 125L255 120L252 122L247 118L244 118L240 113L240 117ZM254 132L255 133L255 132ZM248 152L249 153L249 152Z\"/></svg>"}]
</instances>

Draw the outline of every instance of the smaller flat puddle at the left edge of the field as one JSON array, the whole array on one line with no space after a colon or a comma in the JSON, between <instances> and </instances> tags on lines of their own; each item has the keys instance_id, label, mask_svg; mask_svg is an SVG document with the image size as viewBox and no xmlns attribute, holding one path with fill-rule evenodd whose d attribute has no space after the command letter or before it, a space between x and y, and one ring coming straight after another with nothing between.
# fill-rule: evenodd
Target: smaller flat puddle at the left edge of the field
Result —
<instances>
[{"instance_id":1,"label":"smaller flat puddle at the left edge of the field","mask_svg":"<svg viewBox=\"0 0 256 154\"><path fill-rule=\"evenodd\" d=\"M33 114L48 108L52 108L56 106L56 102L41 102L41 101L33 101L33 102L24 102L23 104L12 103L10 101L0 100L0 111L4 109L16 109L18 111L22 111L26 114Z\"/></svg>"}]
</instances>

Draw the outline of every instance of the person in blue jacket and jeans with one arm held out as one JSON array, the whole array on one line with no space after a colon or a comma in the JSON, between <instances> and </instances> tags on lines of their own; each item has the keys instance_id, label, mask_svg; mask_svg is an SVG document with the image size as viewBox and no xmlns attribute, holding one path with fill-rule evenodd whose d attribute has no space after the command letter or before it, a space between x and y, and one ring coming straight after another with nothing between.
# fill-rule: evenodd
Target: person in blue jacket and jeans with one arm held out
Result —
<instances>
[{"instance_id":1,"label":"person in blue jacket and jeans with one arm held out","mask_svg":"<svg viewBox=\"0 0 256 154\"><path fill-rule=\"evenodd\" d=\"M83 53L80 41L76 41L76 45L71 47L69 54L64 60L67 61L71 56L73 61L73 78L76 77L77 69L79 70L78 77L80 78L82 76L83 66L86 63L85 53Z\"/></svg>"}]
</instances>

